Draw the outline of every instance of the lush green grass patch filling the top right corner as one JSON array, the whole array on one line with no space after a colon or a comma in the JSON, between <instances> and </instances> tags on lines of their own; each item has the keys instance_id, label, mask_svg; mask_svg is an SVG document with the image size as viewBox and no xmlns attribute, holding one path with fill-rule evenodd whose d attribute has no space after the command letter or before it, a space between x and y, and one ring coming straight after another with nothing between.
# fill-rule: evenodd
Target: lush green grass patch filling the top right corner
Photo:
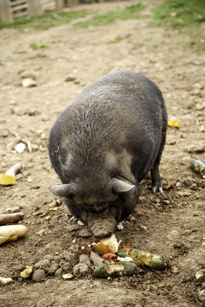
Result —
<instances>
[{"instance_id":1,"label":"lush green grass patch filling the top right corner","mask_svg":"<svg viewBox=\"0 0 205 307\"><path fill-rule=\"evenodd\" d=\"M185 27L204 21L204 0L166 0L154 10L150 26Z\"/></svg>"}]
</instances>

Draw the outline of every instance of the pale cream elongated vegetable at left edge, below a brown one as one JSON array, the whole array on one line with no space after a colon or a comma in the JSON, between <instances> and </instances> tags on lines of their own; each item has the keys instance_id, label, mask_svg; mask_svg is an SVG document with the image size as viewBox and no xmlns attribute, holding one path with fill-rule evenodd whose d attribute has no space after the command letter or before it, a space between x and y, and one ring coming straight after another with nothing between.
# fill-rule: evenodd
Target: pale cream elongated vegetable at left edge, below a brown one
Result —
<instances>
[{"instance_id":1,"label":"pale cream elongated vegetable at left edge, below a brown one","mask_svg":"<svg viewBox=\"0 0 205 307\"><path fill-rule=\"evenodd\" d=\"M26 233L27 228L23 225L0 226L0 245L22 238Z\"/></svg>"}]
</instances>

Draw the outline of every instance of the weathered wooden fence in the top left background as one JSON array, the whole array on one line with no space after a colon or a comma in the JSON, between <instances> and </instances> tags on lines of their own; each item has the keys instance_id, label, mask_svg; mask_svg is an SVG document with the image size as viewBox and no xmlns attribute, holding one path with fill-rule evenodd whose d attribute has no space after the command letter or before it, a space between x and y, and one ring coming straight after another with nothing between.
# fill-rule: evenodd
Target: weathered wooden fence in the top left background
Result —
<instances>
[{"instance_id":1,"label":"weathered wooden fence in the top left background","mask_svg":"<svg viewBox=\"0 0 205 307\"><path fill-rule=\"evenodd\" d=\"M77 5L80 0L0 0L0 23Z\"/></svg>"}]
</instances>

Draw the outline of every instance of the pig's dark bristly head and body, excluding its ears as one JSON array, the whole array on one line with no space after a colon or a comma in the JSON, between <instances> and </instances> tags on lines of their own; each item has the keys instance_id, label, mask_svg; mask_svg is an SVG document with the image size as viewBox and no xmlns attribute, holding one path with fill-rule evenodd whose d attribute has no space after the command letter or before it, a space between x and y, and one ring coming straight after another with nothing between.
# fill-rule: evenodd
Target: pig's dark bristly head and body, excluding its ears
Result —
<instances>
[{"instance_id":1,"label":"pig's dark bristly head and body, excluding its ears","mask_svg":"<svg viewBox=\"0 0 205 307\"><path fill-rule=\"evenodd\" d=\"M157 187L161 191L158 165L166 128L167 112L160 90L133 71L98 79L58 116L49 138L51 163L61 182L70 184L65 195L67 206L95 229L96 236L98 228L112 233L113 221L133 211L138 182L150 170L153 192ZM112 178L135 187L115 193Z\"/></svg>"}]
</instances>

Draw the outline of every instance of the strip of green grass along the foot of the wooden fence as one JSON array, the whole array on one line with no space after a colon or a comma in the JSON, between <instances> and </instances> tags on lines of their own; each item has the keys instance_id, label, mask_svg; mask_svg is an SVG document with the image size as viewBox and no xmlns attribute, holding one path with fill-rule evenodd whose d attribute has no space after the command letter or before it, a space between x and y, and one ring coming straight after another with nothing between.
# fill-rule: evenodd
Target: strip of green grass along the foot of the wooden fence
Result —
<instances>
[{"instance_id":1,"label":"strip of green grass along the foot of the wooden fence","mask_svg":"<svg viewBox=\"0 0 205 307\"><path fill-rule=\"evenodd\" d=\"M69 23L73 19L85 17L88 14L90 14L90 12L87 10L45 13L30 18L18 18L15 19L13 23L0 23L0 30L3 28L15 28L18 30L35 28L37 30L47 30L54 26Z\"/></svg>"}]
</instances>

